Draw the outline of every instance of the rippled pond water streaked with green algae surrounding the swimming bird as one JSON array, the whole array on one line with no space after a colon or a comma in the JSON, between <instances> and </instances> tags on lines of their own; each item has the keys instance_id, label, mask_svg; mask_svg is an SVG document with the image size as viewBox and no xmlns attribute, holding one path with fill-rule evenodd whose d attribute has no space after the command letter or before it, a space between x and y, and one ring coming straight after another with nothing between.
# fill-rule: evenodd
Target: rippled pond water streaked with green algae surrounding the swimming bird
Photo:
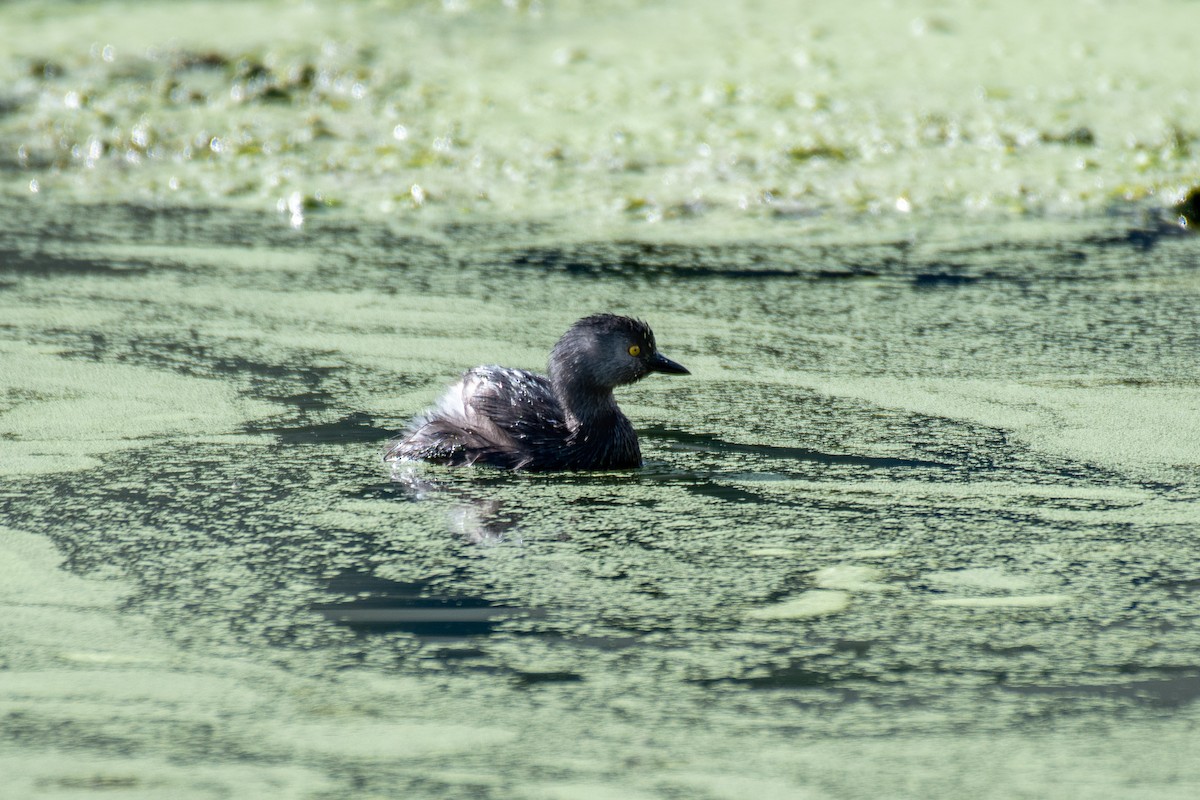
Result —
<instances>
[{"instance_id":1,"label":"rippled pond water streaked with green algae surrounding the swimming bird","mask_svg":"<svg viewBox=\"0 0 1200 800\"><path fill-rule=\"evenodd\" d=\"M10 796L1200 787L1174 225L667 246L12 213ZM644 469L379 462L461 367L538 368L596 308L692 369L622 393Z\"/></svg>"}]
</instances>

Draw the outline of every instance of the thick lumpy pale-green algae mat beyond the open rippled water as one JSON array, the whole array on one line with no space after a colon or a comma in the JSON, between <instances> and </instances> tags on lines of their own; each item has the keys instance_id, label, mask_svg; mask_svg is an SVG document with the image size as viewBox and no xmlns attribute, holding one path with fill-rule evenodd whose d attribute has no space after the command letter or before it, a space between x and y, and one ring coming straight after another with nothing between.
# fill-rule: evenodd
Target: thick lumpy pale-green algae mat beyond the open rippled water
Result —
<instances>
[{"instance_id":1,"label":"thick lumpy pale-green algae mat beyond the open rippled water","mask_svg":"<svg viewBox=\"0 0 1200 800\"><path fill-rule=\"evenodd\" d=\"M0 143L11 194L295 224L338 205L689 233L1169 207L1198 170L1195 13L19 2Z\"/></svg>"}]
</instances>

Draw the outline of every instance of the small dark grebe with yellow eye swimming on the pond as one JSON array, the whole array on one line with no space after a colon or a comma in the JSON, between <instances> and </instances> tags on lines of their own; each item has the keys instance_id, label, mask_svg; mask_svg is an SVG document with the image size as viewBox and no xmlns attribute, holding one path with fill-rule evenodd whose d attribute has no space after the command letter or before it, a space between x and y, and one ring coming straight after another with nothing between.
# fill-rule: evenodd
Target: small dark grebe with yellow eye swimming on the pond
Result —
<instances>
[{"instance_id":1,"label":"small dark grebe with yellow eye swimming on the pond","mask_svg":"<svg viewBox=\"0 0 1200 800\"><path fill-rule=\"evenodd\" d=\"M388 444L384 461L534 471L640 467L637 434L612 390L652 372L689 374L659 354L646 323L586 317L558 339L548 377L494 366L469 369Z\"/></svg>"}]
</instances>

